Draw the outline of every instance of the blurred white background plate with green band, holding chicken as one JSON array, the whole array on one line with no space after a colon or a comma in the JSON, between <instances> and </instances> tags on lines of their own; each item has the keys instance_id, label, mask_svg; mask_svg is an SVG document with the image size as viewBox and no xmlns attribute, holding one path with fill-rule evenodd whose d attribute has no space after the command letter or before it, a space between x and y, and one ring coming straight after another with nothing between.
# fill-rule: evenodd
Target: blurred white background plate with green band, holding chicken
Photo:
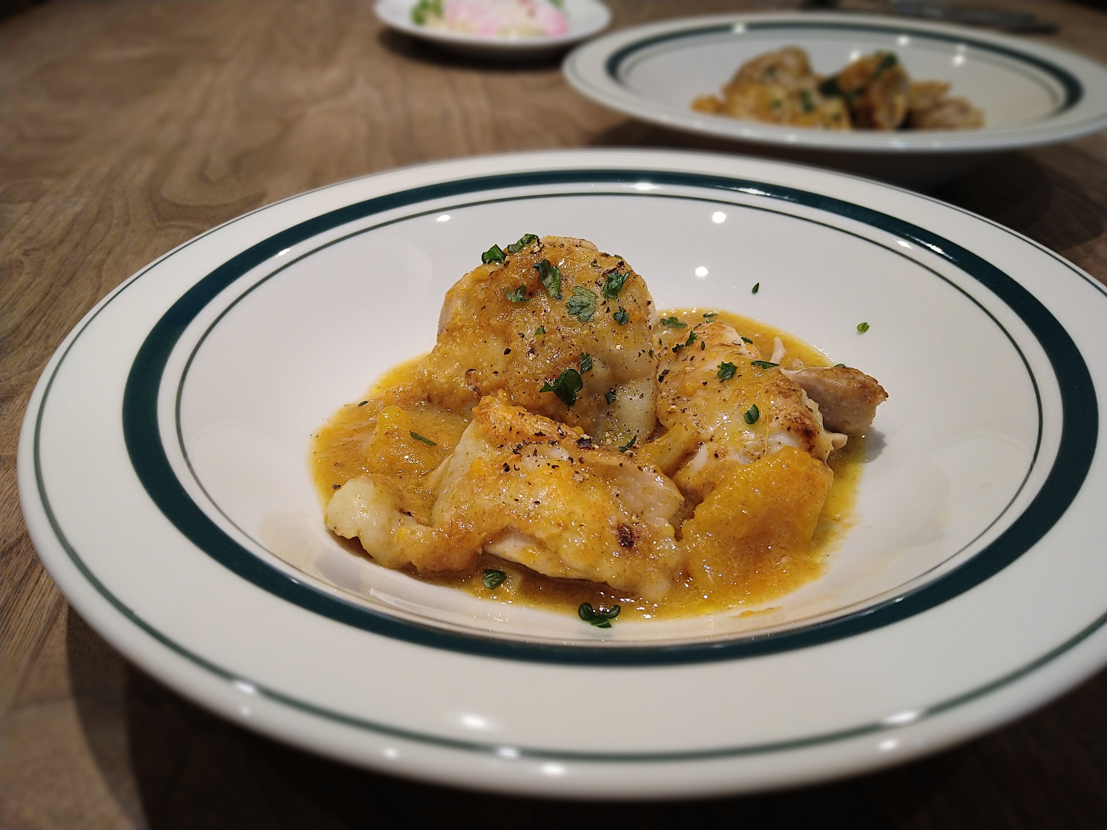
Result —
<instances>
[{"instance_id":1,"label":"blurred white background plate with green band, holding chicken","mask_svg":"<svg viewBox=\"0 0 1107 830\"><path fill-rule=\"evenodd\" d=\"M694 112L745 61L786 45L816 72L881 51L911 77L948 81L984 110L982 129L825 131ZM994 153L1052 144L1107 126L1107 70L1072 52L942 23L860 14L728 14L621 29L575 50L565 76L617 112L673 129L780 148L857 154Z\"/></svg>"}]
</instances>

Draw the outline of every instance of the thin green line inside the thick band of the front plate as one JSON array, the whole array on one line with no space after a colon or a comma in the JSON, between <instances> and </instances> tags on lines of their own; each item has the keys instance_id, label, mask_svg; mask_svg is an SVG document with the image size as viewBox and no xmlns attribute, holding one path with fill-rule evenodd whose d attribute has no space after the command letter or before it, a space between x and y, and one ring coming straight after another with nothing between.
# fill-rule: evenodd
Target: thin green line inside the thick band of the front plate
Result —
<instances>
[{"instance_id":1,"label":"thin green line inside the thick band of the front plate","mask_svg":"<svg viewBox=\"0 0 1107 830\"><path fill-rule=\"evenodd\" d=\"M185 460L185 465L188 467L188 471L192 475L193 480L196 483L196 486L199 487L199 489L203 491L204 496L208 499L208 501L211 502L211 505L216 508L216 510L219 511L219 513L224 517L224 519L227 520L228 523L230 523L242 536L245 536L248 539L250 539L250 541L252 541L259 548L261 548L263 550L268 550L268 547L261 540L256 539L246 528L242 528L240 525L238 525L231 518L231 516L219 506L219 504L216 501L216 499L214 499L211 497L211 494L208 491L207 487L204 486L204 483L200 480L199 476L196 474L195 468L193 467L192 459L190 459L190 457L188 455L188 448L185 446L184 427L183 427L182 422L180 422L180 405L182 405L182 398L184 396L185 383L187 381L188 373L189 373L189 370L192 369L193 361L195 360L196 354L199 352L199 349L204 344L205 340L207 340L207 336L215 330L215 328L217 325L219 325L219 323L231 311L231 309L234 309L239 302L241 302L247 297L249 297L254 292L255 289L257 289L260 286L265 284L266 282L268 282L270 279L277 277L278 274L282 273L283 271L286 271L291 266L293 266L293 264L296 264L298 262L302 262L304 259L307 259L308 257L312 256L313 253L315 253L315 252L318 252L320 250L323 250L325 248L330 248L331 246L334 246L334 245L338 245L340 242L346 241L348 239L351 239L353 237L361 236L362 234L369 234L369 232L371 232L373 230L377 230L380 228L387 227L389 225L394 225L396 222L407 221L408 219L415 219L415 218L418 218L421 216L431 216L431 215L434 215L434 214L439 214L439 212L442 212L444 210L445 211L461 210L463 208L473 207L473 206L476 206L476 205L488 205L488 204L494 204L494 203L518 201L518 200L532 200L532 199L542 199L542 198L565 198L565 197L573 197L573 196L592 196L592 195L596 195L594 190L583 190L583 191L563 191L563 190L558 190L556 193L550 193L550 194L537 194L537 195L510 196L510 197L503 196L503 197L498 197L498 198L488 198L488 199L482 199L482 200L470 200L470 201L456 203L456 204L449 204L449 205L438 204L432 210L420 210L420 211L412 212L412 214L404 214L403 216L400 216L400 217L396 217L396 218L393 218L393 219L389 219L389 220L385 220L383 222L379 222L376 225L371 225L371 226L368 226L365 228L360 228L359 230L355 230L355 231L353 231L351 234L346 234L346 235L344 235L342 237L339 237L338 239L332 239L332 240L330 240L328 242L324 242L323 245L320 245L320 246L318 246L318 247L315 247L315 248L313 248L311 250L308 250L308 251L304 251L303 253L300 253L294 259L290 259L288 262L283 262L280 267L273 269L272 271L270 271L269 273L267 273L265 277L262 277L261 279L259 279L257 282L255 282L252 286L250 286L248 289L246 289L246 291L244 291L238 297L236 297L234 299L234 301L231 301L227 305L227 308L225 308L223 311L220 311L219 314L216 317L216 319L214 321L211 321L211 323L208 325L208 328L204 331L204 333L197 340L196 344L193 346L193 350L189 353L188 359L185 361L185 366L184 366L184 370L180 373L180 378L177 382L177 392L176 392L175 412L174 412L174 421L175 421L175 424L176 424L176 433L177 433L177 447L180 450L182 457ZM737 208L742 208L744 210L756 210L756 211L761 211L761 212L769 212L769 214L777 214L779 216L786 216L789 219L795 219L795 220L798 220L798 221L809 222L811 225L818 225L820 227L827 228L829 230L834 230L834 231L839 232L839 234L846 234L847 236L851 236L851 237L853 237L853 238L856 238L856 239L858 239L858 240L860 240L862 242L867 242L869 245L873 245L873 246L880 248L881 250L884 250L884 251L887 251L889 253L892 253L892 255L894 255L897 257L901 257L902 259L908 260L909 262L911 262L917 268L923 269L924 271L929 272L933 277L937 277L938 279L942 280L948 286L950 286L951 288L953 288L954 290L956 290L959 293L962 294L962 297L964 297L965 299L968 299L982 313L984 313L992 321L992 323L997 329L1000 329L1000 331L1003 332L1003 334L1007 338L1007 341L1011 343L1011 346L1018 354L1018 357L1020 357L1020 360L1023 363L1023 367L1026 370L1026 374L1027 374L1027 376L1030 378L1030 382L1031 382L1031 385L1032 385L1032 387L1034 390L1034 401L1035 401L1035 406L1037 408L1038 426L1037 426L1037 436L1036 436L1035 443L1034 443L1034 453L1033 453L1033 456L1031 458L1031 463L1027 466L1026 474L1025 474L1025 476L1023 476L1023 480L1020 483L1018 488L1016 489L1015 494L1011 497L1011 499L1007 501L1007 504L1004 505L1003 509L1000 510L996 513L995 518L993 518L992 521L990 521L987 523L987 526L985 528L983 528L973 539L969 540L960 550L954 551L949 557L946 557L945 561L954 559L955 557L960 556L965 550L968 550L969 548L971 548L973 544L975 544L976 541L981 537L983 537L985 533L987 533L996 525L996 522L999 522L1000 519L1003 518L1003 516L1007 512L1007 510L1011 508L1011 506L1018 498L1020 494L1022 492L1023 488L1026 486L1026 483L1030 480L1030 477L1032 476L1032 474L1034 471L1034 468L1035 468L1035 466L1037 464L1038 454L1039 454L1041 448L1042 448L1042 435L1043 435L1043 429L1044 429L1044 419L1043 419L1043 413L1042 413L1042 396L1041 396L1041 392L1038 390L1037 378L1034 376L1034 372L1031 369L1030 362L1026 360L1026 355L1023 353L1023 350L1020 347L1020 345L1015 341L1014 336L1012 336L1011 332L1007 331L1006 326L1004 326L995 318L995 315L992 314L992 312L989 311L987 308L985 308L983 305L983 303L981 303L979 300L976 300L974 297L972 297L972 294L970 294L963 288L961 288L960 286L958 286L955 282L953 282L949 278L944 277L940 272L935 271L934 269L932 269L932 268L923 264L922 262L915 260L914 258L912 258L911 256L909 256L908 253L906 253L903 251L903 249L900 248L899 246L884 245L882 242L878 242L877 240L870 239L869 237L862 236L860 234L855 234L853 231L840 228L840 227L838 227L836 225L831 225L829 222L818 221L818 220L811 219L809 217L797 216L794 212L789 212L789 211L785 211L785 210L778 210L778 209L775 209L775 208L768 208L768 207L764 207L764 206L747 205L747 204L727 201L727 200L724 200L724 199L708 199L708 198L705 198L704 196L677 196L677 195L672 195L672 194L660 194L660 193L651 193L651 194L642 194L642 193L606 193L603 195L607 196L607 197L689 200L689 201L697 201L700 204L705 204L705 205L725 206L725 207L728 207L728 208L735 208L735 207L737 207ZM272 551L269 551L269 552L272 553ZM280 558L280 557L277 557L276 554L272 554L272 556L275 556L278 559ZM943 563L939 563L938 566L934 567L934 569L931 569L931 570L935 570L938 568L941 568L942 564ZM928 573L929 573L929 571L928 571ZM925 575L927 575L927 573L918 574L919 578L925 577ZM842 615L845 616L845 614L842 614ZM795 625L792 629L793 631L797 631L797 630L800 630L801 627L804 627L804 624L803 624L801 621L797 621L797 623L798 624ZM488 636L488 635L485 635L485 636ZM763 634L747 634L747 635L736 636L736 637L733 637L731 640L731 642L737 642L738 640L749 640L749 639L754 639L754 637L759 639L759 640L764 640L766 637L766 634L764 634L764 633ZM577 647L604 647L604 646L578 645ZM618 647L627 649L627 647L633 647L633 646L620 645ZM658 647L658 646L654 646L654 647Z\"/></svg>"}]
</instances>

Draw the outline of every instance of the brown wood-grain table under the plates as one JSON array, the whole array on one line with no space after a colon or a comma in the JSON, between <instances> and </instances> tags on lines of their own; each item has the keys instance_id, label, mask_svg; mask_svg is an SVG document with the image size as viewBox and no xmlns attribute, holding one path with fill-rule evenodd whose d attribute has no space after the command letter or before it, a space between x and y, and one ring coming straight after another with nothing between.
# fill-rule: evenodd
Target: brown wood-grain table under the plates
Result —
<instances>
[{"instance_id":1,"label":"brown wood-grain table under the plates","mask_svg":"<svg viewBox=\"0 0 1107 830\"><path fill-rule=\"evenodd\" d=\"M743 8L611 4L617 25ZM1045 40L1104 60L1107 15L1032 8L1061 23ZM93 303L214 225L351 176L682 139L583 101L556 63L482 66L384 33L370 0L54 0L0 31L2 827L1107 827L1107 672L1002 730L879 775L756 798L582 805L325 761L242 732L128 664L45 574L15 496L28 396ZM938 195L1107 281L1105 159L1107 142L1093 136L999 158Z\"/></svg>"}]
</instances>

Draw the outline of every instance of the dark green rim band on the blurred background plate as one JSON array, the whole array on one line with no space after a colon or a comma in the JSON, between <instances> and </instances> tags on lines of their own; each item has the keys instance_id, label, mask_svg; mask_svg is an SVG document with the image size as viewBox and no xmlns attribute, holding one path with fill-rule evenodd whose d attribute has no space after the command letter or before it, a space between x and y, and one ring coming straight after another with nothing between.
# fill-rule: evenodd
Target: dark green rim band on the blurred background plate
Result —
<instances>
[{"instance_id":1,"label":"dark green rim band on the blurred background plate","mask_svg":"<svg viewBox=\"0 0 1107 830\"><path fill-rule=\"evenodd\" d=\"M744 27L742 31L735 31L735 25ZM660 43L666 43L674 40L684 40L692 38L703 38L712 34L733 34L739 37L745 32L755 31L773 31L776 29L826 29L828 31L848 31L848 32L878 32L880 34L904 34L908 33L912 38L920 38L924 40L937 40L945 43L963 43L965 45L972 46L973 49L979 49L983 52L993 52L995 54L1001 54L1005 58L1011 58L1013 60L1022 61L1023 63L1028 63L1033 66L1045 72L1047 75L1052 76L1057 83L1061 84L1062 89L1065 91L1065 100L1062 105L1055 111L1058 113L1065 112L1066 110L1072 110L1076 104L1080 102L1084 97L1084 85L1079 80L1073 75L1068 70L1058 66L1055 63L1046 61L1037 55L1030 54L1027 52L1022 52L1015 49L1010 49L1007 46L1002 46L995 43L989 43L987 41L976 40L974 38L962 38L952 34L945 34L943 32L934 32L925 29L914 29L910 23L901 23L897 25L880 25L877 23L830 23L825 21L741 21L736 20L734 23L721 23L714 25L703 25L694 27L691 29L681 29L674 32L664 32L662 34L655 34L649 38L643 38L642 40L634 41L633 43L628 43L622 49L618 50L608 58L604 69L608 76L612 81L621 85L621 80L619 77L619 70L622 63L633 55L635 52L641 52L650 46L658 45Z\"/></svg>"}]
</instances>

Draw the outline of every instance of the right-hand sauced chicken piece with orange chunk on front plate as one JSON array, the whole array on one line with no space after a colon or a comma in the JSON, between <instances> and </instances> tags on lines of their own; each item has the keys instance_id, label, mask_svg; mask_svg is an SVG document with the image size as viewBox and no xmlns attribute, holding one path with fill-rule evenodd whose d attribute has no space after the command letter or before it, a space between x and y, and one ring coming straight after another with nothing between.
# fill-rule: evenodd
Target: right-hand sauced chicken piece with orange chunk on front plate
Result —
<instances>
[{"instance_id":1,"label":"right-hand sauced chicken piece with orange chunk on front plate","mask_svg":"<svg viewBox=\"0 0 1107 830\"><path fill-rule=\"evenodd\" d=\"M735 583L766 550L806 553L834 480L826 458L846 436L827 432L803 388L733 326L673 325L663 339L668 432L639 456L685 497L676 521L693 579Z\"/></svg>"}]
</instances>

